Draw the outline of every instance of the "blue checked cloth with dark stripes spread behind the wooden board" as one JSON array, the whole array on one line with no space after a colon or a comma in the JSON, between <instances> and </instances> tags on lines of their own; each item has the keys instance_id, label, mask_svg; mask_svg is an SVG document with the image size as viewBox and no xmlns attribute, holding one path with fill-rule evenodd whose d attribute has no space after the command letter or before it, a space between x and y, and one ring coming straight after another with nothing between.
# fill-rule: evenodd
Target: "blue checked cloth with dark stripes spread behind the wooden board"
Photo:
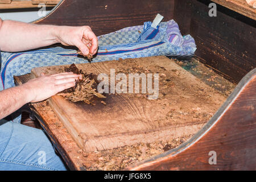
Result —
<instances>
[{"instance_id":1,"label":"blue checked cloth with dark stripes spread behind the wooden board","mask_svg":"<svg viewBox=\"0 0 256 182\"><path fill-rule=\"evenodd\" d=\"M196 51L195 40L190 35L182 36L174 20L159 23L156 29L151 27L151 22L123 28L99 36L98 42L98 53L93 62L159 55L184 57ZM35 67L87 63L82 57L77 57L76 52L63 47L2 52L0 90L14 86L13 76L30 73Z\"/></svg>"}]
</instances>

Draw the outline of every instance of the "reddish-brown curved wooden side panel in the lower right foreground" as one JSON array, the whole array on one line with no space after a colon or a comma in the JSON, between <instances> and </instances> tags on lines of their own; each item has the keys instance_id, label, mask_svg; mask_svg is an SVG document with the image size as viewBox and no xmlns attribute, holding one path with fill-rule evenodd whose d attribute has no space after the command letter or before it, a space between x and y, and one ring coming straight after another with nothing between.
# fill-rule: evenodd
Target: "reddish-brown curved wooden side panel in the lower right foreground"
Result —
<instances>
[{"instance_id":1,"label":"reddish-brown curved wooden side panel in the lower right foreground","mask_svg":"<svg viewBox=\"0 0 256 182\"><path fill-rule=\"evenodd\" d=\"M130 170L255 170L256 69L237 85L207 125L181 146ZM211 163L213 153L216 163Z\"/></svg>"}]
</instances>

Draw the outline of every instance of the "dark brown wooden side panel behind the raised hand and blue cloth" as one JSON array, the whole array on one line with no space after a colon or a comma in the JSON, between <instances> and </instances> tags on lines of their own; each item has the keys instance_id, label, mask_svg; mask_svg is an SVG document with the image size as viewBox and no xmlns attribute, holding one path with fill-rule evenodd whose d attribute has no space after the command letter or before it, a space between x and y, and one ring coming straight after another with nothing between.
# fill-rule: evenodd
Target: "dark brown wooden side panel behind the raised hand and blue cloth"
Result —
<instances>
[{"instance_id":1,"label":"dark brown wooden side panel behind the raised hand and blue cloth","mask_svg":"<svg viewBox=\"0 0 256 182\"><path fill-rule=\"evenodd\" d=\"M154 20L158 13L164 16L164 20L172 19L174 1L64 0L49 15L35 23L86 25L98 36L121 28L142 25L143 22Z\"/></svg>"}]
</instances>

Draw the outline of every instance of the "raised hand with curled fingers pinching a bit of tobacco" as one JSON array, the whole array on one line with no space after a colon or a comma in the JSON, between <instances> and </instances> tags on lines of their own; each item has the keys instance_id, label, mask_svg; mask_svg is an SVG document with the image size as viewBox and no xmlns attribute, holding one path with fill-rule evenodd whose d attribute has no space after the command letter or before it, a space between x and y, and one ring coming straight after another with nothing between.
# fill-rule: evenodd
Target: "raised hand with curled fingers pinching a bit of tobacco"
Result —
<instances>
[{"instance_id":1,"label":"raised hand with curled fingers pinching a bit of tobacco","mask_svg":"<svg viewBox=\"0 0 256 182\"><path fill-rule=\"evenodd\" d=\"M76 46L83 55L94 55L98 49L98 39L89 26L58 26L57 38L64 46Z\"/></svg>"}]
</instances>

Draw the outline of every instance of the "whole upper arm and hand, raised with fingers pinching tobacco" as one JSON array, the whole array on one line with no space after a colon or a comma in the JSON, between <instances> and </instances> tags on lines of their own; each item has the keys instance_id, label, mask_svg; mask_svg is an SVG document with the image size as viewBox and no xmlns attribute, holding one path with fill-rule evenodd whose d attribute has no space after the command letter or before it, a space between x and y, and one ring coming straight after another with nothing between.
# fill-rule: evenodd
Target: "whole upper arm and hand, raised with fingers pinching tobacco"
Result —
<instances>
[{"instance_id":1,"label":"whole upper arm and hand, raised with fingers pinching tobacco","mask_svg":"<svg viewBox=\"0 0 256 182\"><path fill-rule=\"evenodd\" d=\"M61 43L94 55L98 39L89 26L54 26L0 19L1 51L18 52Z\"/></svg>"}]
</instances>

